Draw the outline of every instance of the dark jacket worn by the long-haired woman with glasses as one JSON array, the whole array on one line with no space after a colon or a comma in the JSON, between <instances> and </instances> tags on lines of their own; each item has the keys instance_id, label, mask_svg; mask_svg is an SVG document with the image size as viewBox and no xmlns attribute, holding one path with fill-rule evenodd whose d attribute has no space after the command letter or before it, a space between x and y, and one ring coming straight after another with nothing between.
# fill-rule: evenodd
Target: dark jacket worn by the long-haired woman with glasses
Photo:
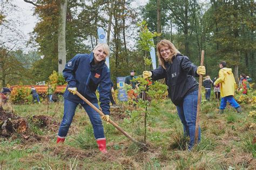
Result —
<instances>
[{"instance_id":1,"label":"dark jacket worn by the long-haired woman with glasses","mask_svg":"<svg viewBox=\"0 0 256 170\"><path fill-rule=\"evenodd\" d=\"M199 77L197 66L190 62L187 56L177 54L172 63L165 62L166 70L162 66L151 70L152 80L165 78L169 97L174 105L183 102L186 94L198 89L198 83L193 77Z\"/></svg>"}]
</instances>

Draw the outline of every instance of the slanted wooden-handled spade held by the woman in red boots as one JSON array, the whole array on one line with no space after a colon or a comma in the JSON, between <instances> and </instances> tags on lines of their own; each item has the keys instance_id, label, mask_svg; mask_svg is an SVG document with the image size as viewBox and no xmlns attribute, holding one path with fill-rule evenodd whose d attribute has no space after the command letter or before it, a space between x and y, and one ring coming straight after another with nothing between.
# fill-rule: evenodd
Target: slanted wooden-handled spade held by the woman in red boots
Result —
<instances>
[{"instance_id":1,"label":"slanted wooden-handled spade held by the woman in red boots","mask_svg":"<svg viewBox=\"0 0 256 170\"><path fill-rule=\"evenodd\" d=\"M100 114L100 116L104 116L105 114L100 111L95 105L93 105L89 100L87 100L85 97L83 97L82 94L80 94L78 91L76 91L76 94L79 98L81 98L82 100L84 100L85 103L87 103L89 106L91 106L96 112L98 112ZM132 138L128 133L126 133L120 126L118 126L116 123L114 123L111 119L109 119L109 123L112 124L114 127L117 128L118 131L120 131L121 133L123 133L125 135L125 137L127 137L128 139L130 139L131 141L133 141L138 147L140 147L141 149L143 149L143 151L147 151L149 148L146 146L146 144L139 142L137 140L135 140L134 138Z\"/></svg>"}]
</instances>

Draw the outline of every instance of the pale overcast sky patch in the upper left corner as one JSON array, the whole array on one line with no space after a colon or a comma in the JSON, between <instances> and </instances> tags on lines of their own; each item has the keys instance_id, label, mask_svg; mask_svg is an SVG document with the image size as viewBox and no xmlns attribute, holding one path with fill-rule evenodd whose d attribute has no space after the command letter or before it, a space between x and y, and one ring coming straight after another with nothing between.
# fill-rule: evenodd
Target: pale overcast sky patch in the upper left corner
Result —
<instances>
[{"instance_id":1,"label":"pale overcast sky patch in the upper left corner","mask_svg":"<svg viewBox=\"0 0 256 170\"><path fill-rule=\"evenodd\" d=\"M26 47L26 42L38 22L37 17L33 16L34 6L23 0L11 0L7 4L4 2L1 3L3 6L0 6L0 11L4 13L7 22L1 25L0 42L8 49L31 50L31 47Z\"/></svg>"}]
</instances>

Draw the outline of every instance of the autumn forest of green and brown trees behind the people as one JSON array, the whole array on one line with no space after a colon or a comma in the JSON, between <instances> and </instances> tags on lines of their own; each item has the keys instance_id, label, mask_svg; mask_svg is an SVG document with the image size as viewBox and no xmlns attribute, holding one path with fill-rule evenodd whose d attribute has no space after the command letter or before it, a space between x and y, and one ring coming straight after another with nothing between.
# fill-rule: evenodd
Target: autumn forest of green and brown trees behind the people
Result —
<instances>
[{"instance_id":1,"label":"autumn forest of green and brown trees behind the people","mask_svg":"<svg viewBox=\"0 0 256 170\"><path fill-rule=\"evenodd\" d=\"M0 1L0 79L2 87L36 84L58 71L59 29L65 12L66 61L77 53L90 53L98 43L101 26L110 45L111 78L127 76L130 70L142 74L144 56L150 53L139 45L137 23L145 20L147 28L161 33L154 38L169 39L178 50L199 65L205 50L206 74L218 76L218 63L227 61L238 83L240 73L256 78L255 2L150 0L134 6L133 1L27 1L35 6L38 23L24 42L17 19L10 12L19 10L12 1ZM66 11L62 9L67 5ZM23 16L26 17L26 16ZM63 25L62 25L63 26ZM26 44L26 48L21 44ZM26 49L26 50L25 50ZM29 50L28 50L29 49ZM130 68L130 69L127 69Z\"/></svg>"}]
</instances>

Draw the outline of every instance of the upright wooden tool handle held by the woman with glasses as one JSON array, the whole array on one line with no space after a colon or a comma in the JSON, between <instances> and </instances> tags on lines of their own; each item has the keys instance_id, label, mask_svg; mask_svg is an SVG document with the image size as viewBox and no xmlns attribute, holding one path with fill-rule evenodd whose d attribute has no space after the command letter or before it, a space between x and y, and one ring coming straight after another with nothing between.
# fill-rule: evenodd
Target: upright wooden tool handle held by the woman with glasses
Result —
<instances>
[{"instance_id":1,"label":"upright wooden tool handle held by the woman with glasses","mask_svg":"<svg viewBox=\"0 0 256 170\"><path fill-rule=\"evenodd\" d=\"M201 63L200 66L204 65L205 51L201 51ZM200 102L201 102L201 89L202 89L203 75L199 75L199 88L198 88L198 100L197 100L197 120L196 120L196 132L194 134L194 144L197 144L199 134L199 114L200 114Z\"/></svg>"}]
</instances>

